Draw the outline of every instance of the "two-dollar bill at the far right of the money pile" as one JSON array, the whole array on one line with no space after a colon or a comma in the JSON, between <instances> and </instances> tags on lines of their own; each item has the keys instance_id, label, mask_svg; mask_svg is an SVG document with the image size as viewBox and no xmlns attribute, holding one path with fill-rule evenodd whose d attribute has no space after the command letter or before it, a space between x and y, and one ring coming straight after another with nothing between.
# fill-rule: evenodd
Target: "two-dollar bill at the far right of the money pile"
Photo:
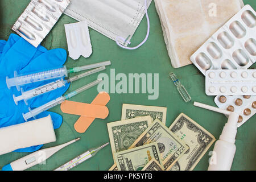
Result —
<instances>
[{"instance_id":1,"label":"two-dollar bill at the far right of the money pile","mask_svg":"<svg viewBox=\"0 0 256 182\"><path fill-rule=\"evenodd\" d=\"M189 150L167 170L193 170L215 141L212 134L183 113L175 119L169 129L188 145Z\"/></svg>"}]
</instances>

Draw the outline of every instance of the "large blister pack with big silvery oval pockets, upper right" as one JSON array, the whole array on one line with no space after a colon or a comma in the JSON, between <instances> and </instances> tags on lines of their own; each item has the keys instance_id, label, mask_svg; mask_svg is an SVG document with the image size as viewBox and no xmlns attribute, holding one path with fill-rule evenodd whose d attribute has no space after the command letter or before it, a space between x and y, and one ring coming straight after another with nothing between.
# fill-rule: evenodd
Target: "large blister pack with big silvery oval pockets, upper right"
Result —
<instances>
[{"instance_id":1,"label":"large blister pack with big silvery oval pockets, upper right","mask_svg":"<svg viewBox=\"0 0 256 182\"><path fill-rule=\"evenodd\" d=\"M209 69L247 69L256 61L255 32L255 11L246 5L190 59L204 75Z\"/></svg>"}]
</instances>

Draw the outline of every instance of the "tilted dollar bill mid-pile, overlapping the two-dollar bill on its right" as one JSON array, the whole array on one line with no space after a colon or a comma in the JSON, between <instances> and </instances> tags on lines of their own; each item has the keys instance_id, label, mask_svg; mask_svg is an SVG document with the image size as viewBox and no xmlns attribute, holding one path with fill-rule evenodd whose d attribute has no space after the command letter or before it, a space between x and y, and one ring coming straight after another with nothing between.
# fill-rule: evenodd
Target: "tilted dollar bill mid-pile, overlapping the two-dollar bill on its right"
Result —
<instances>
[{"instance_id":1,"label":"tilted dollar bill mid-pile, overlapping the two-dollar bill on its right","mask_svg":"<svg viewBox=\"0 0 256 182\"><path fill-rule=\"evenodd\" d=\"M187 145L180 138L177 138L159 119L155 119L130 148L152 142L158 144L160 160L165 169L174 164L188 150Z\"/></svg>"}]
</instances>

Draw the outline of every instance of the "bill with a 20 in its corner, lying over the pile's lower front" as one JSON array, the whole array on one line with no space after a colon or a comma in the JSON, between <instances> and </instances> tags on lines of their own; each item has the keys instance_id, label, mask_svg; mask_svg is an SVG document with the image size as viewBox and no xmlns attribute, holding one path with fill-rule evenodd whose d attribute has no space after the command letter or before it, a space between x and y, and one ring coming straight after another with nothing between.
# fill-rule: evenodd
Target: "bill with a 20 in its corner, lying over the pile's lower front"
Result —
<instances>
[{"instance_id":1,"label":"bill with a 20 in its corner, lying over the pile's lower front","mask_svg":"<svg viewBox=\"0 0 256 182\"><path fill-rule=\"evenodd\" d=\"M153 158L161 164L157 143L146 144L114 154L119 171L141 171Z\"/></svg>"}]
</instances>

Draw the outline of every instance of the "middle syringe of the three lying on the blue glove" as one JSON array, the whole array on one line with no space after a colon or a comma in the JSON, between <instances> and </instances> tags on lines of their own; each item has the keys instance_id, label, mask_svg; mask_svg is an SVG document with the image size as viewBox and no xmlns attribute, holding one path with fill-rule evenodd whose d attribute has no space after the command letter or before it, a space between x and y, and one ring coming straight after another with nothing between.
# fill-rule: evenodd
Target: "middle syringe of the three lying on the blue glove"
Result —
<instances>
[{"instance_id":1,"label":"middle syringe of the three lying on the blue glove","mask_svg":"<svg viewBox=\"0 0 256 182\"><path fill-rule=\"evenodd\" d=\"M77 76L73 76L73 77L69 77L69 78L65 78L65 79L61 78L59 80L50 82L49 84L39 86L38 88L31 89L31 90L28 90L26 92L24 92L23 89L21 88L20 89L21 93L22 93L21 96L15 97L15 95L13 95L13 100L14 100L16 105L18 105L18 102L21 101L21 100L24 100L24 102L27 105L27 100L29 100L30 98L33 98L33 97L36 97L36 96L40 96L40 95L42 95L44 93L50 92L50 91L55 90L57 88L61 88L61 87L65 86L69 82L73 82L73 81L79 80L80 78L92 75L93 73L100 72L100 71L102 71L104 69L106 69L105 66L104 67L100 67L100 68L96 68L96 69L92 69L92 70L90 70L88 72L82 73L82 74L77 75Z\"/></svg>"}]
</instances>

